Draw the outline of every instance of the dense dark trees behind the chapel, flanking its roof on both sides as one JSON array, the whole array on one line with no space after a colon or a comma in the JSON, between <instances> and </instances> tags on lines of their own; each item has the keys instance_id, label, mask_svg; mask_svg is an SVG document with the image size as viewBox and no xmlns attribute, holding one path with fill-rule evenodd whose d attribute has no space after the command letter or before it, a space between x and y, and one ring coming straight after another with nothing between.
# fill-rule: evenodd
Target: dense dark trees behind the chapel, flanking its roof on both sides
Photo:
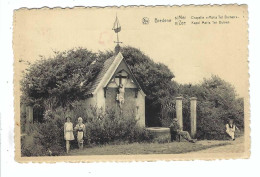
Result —
<instances>
[{"instance_id":1,"label":"dense dark trees behind the chapel, flanking its roof on both sides","mask_svg":"<svg viewBox=\"0 0 260 177\"><path fill-rule=\"evenodd\" d=\"M149 126L160 126L163 99L175 92L174 78L169 68L155 63L139 49L123 47L121 53L137 81L146 93L146 117ZM93 53L77 48L56 52L31 65L21 81L22 101L45 110L68 107L72 102L86 98L90 83L112 51Z\"/></svg>"}]
</instances>

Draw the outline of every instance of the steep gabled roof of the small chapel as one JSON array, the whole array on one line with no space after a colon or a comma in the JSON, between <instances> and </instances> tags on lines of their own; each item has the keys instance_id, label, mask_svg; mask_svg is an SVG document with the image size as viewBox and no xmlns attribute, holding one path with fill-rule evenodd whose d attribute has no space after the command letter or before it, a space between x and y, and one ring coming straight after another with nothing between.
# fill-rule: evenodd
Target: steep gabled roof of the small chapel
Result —
<instances>
[{"instance_id":1,"label":"steep gabled roof of the small chapel","mask_svg":"<svg viewBox=\"0 0 260 177\"><path fill-rule=\"evenodd\" d=\"M133 81L135 82L135 84L137 85L137 87L139 88L141 93L145 96L145 93L142 91L142 88L140 87L139 83L135 79L135 77L134 77L133 73L131 72L129 66L127 65L126 61L124 60L121 52L119 52L115 56L110 57L109 59L107 59L105 61L103 68L101 69L101 71L99 72L99 74L97 75L95 80L92 82L92 85L89 89L88 94L94 95L94 94L97 93L97 91L100 88L106 87L108 85L109 81L111 80L111 78L114 76L114 74L118 72L118 70L117 70L118 66L122 62L125 63L125 66L127 67L127 70L129 72L129 74L131 75Z\"/></svg>"}]
</instances>

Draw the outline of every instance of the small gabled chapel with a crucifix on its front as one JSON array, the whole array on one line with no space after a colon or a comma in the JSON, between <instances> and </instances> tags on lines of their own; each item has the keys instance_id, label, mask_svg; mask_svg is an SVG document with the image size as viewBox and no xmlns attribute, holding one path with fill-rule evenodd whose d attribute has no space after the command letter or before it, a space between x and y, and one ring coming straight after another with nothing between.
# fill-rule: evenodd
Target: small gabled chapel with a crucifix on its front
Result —
<instances>
[{"instance_id":1,"label":"small gabled chapel with a crucifix on its front","mask_svg":"<svg viewBox=\"0 0 260 177\"><path fill-rule=\"evenodd\" d=\"M131 72L121 52L108 58L91 83L86 104L123 116L134 116L145 126L145 93Z\"/></svg>"}]
</instances>

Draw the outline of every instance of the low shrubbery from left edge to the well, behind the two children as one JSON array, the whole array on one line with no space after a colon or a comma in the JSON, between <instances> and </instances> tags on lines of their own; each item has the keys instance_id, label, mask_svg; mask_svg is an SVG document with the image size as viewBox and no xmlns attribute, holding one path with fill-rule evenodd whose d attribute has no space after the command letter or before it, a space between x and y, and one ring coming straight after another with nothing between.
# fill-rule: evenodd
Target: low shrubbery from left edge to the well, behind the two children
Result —
<instances>
[{"instance_id":1,"label":"low shrubbery from left edge to the well, behind the two children","mask_svg":"<svg viewBox=\"0 0 260 177\"><path fill-rule=\"evenodd\" d=\"M77 118L82 117L86 125L85 144L132 143L152 141L152 134L139 127L131 114L117 114L115 111L103 111L86 107L81 102L74 102L73 108L57 108L45 111L44 122L31 125L27 136L21 139L22 156L62 155L65 152L63 126L65 118L71 117L74 126ZM76 135L75 135L76 139ZM77 147L76 140L71 146Z\"/></svg>"}]
</instances>

